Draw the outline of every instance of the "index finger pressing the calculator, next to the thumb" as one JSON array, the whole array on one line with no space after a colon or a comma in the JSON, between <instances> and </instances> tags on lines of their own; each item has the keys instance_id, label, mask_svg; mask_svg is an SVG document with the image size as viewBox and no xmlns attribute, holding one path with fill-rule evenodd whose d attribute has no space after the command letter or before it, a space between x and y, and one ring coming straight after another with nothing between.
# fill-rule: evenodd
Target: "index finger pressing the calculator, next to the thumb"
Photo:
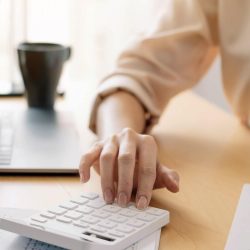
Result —
<instances>
[{"instance_id":1,"label":"index finger pressing the calculator, next to the thumb","mask_svg":"<svg viewBox=\"0 0 250 250\"><path fill-rule=\"evenodd\" d=\"M139 209L145 209L151 200L156 179L157 146L153 137L142 136L138 150L139 171L136 205Z\"/></svg>"}]
</instances>

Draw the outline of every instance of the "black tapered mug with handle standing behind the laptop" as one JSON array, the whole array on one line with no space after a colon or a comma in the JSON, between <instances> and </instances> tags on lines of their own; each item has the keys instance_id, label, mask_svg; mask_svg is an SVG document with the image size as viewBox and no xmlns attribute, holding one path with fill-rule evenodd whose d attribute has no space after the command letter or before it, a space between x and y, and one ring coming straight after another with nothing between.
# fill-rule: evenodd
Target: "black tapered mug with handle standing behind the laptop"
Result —
<instances>
[{"instance_id":1,"label":"black tapered mug with handle standing behind the laptop","mask_svg":"<svg viewBox=\"0 0 250 250\"><path fill-rule=\"evenodd\" d=\"M29 107L53 109L63 64L71 48L53 43L21 43L18 61Z\"/></svg>"}]
</instances>

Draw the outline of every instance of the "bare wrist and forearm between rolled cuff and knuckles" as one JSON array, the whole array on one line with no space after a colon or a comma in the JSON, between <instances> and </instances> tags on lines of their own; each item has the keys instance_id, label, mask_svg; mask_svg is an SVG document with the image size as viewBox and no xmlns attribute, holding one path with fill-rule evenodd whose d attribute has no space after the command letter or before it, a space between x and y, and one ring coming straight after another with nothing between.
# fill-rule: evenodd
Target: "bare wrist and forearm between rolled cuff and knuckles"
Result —
<instances>
[{"instance_id":1,"label":"bare wrist and forearm between rolled cuff and knuckles","mask_svg":"<svg viewBox=\"0 0 250 250\"><path fill-rule=\"evenodd\" d=\"M133 95L119 91L108 96L100 104L97 112L97 134L103 139L123 128L131 128L137 133L143 132L145 112Z\"/></svg>"}]
</instances>

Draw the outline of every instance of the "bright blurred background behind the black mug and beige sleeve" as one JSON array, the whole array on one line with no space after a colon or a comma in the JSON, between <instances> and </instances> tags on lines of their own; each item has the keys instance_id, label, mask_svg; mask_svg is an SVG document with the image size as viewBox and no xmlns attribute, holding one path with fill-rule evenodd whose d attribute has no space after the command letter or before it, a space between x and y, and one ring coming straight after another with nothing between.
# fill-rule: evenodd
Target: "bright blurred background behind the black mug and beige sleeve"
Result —
<instances>
[{"instance_id":1,"label":"bright blurred background behind the black mug and beige sleeve","mask_svg":"<svg viewBox=\"0 0 250 250\"><path fill-rule=\"evenodd\" d=\"M82 93L88 105L99 80L113 67L128 41L147 29L167 0L2 0L0 1L0 92L22 89L16 60L21 41L70 45L60 87ZM229 111L223 95L220 58L194 91Z\"/></svg>"}]
</instances>

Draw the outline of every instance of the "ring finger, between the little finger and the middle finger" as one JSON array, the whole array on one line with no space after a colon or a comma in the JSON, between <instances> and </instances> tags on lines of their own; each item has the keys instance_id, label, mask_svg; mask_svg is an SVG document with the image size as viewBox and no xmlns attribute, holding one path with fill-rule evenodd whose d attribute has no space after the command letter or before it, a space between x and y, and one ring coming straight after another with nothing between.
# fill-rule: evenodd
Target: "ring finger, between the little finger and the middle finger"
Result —
<instances>
[{"instance_id":1,"label":"ring finger, between the little finger and the middle finger","mask_svg":"<svg viewBox=\"0 0 250 250\"><path fill-rule=\"evenodd\" d=\"M112 136L104 145L100 156L100 175L103 197L107 203L114 201L114 168L118 153L117 137Z\"/></svg>"}]
</instances>

